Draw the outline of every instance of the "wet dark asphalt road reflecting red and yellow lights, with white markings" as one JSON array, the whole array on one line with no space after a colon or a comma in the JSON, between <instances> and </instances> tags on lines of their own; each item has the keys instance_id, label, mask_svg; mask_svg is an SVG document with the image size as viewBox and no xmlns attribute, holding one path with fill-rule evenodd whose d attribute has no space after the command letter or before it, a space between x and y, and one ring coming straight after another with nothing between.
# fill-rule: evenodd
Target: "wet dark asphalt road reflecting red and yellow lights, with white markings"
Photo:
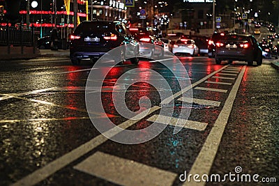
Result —
<instances>
[{"instance_id":1,"label":"wet dark asphalt road reflecting red and yellow lights, with white markings","mask_svg":"<svg viewBox=\"0 0 279 186\"><path fill-rule=\"evenodd\" d=\"M78 66L63 57L1 61L0 185L183 185L189 174L219 174L223 180L230 172L251 178L258 174L261 181L276 178L277 183L257 185L278 185L279 72L271 67L271 60L246 66L237 61L216 65L206 56L180 59L187 75L176 65L170 65L178 73L174 75L151 61L112 68L100 94L105 113L92 114L87 112L84 94L92 67L89 61ZM128 72L137 67L141 68L138 74ZM162 88L163 92L185 95L178 94L174 105L162 104L160 88L146 83L153 79L161 85L162 79L148 69L166 79L170 88ZM128 76L117 82L126 72ZM129 84L135 77L142 81ZM181 90L178 79L192 83L192 88ZM91 86L87 91L95 96L99 89ZM132 121L114 107L113 92L125 95L131 111L153 109ZM183 100L186 97L199 100L190 104ZM162 107L172 107L171 118L160 113ZM183 111L189 117L180 116L179 122L186 126L173 134L174 126L165 122ZM103 137L89 116L111 128L105 120L109 118L128 130L144 129L157 117L165 129L145 143L119 144ZM223 183L205 185L256 185L225 178ZM196 185L193 176L190 179L185 183Z\"/></svg>"}]
</instances>

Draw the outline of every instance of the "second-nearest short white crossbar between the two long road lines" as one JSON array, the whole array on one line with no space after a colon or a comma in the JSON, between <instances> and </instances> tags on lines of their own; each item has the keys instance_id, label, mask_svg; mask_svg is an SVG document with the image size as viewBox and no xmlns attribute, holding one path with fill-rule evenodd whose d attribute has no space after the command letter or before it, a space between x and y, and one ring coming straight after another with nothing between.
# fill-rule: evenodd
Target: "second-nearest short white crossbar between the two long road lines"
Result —
<instances>
[{"instance_id":1,"label":"second-nearest short white crossbar between the two long road lines","mask_svg":"<svg viewBox=\"0 0 279 186\"><path fill-rule=\"evenodd\" d=\"M151 122L157 122L157 123L162 123L165 125L179 125L180 127L188 128L191 130L199 130L203 131L205 130L207 123L202 123L198 121L189 121L183 118L174 118L174 117L169 117L169 116L163 116L163 115L158 115L155 114L151 116L150 118L147 119L147 121ZM169 123L167 123L169 121Z\"/></svg>"}]
</instances>

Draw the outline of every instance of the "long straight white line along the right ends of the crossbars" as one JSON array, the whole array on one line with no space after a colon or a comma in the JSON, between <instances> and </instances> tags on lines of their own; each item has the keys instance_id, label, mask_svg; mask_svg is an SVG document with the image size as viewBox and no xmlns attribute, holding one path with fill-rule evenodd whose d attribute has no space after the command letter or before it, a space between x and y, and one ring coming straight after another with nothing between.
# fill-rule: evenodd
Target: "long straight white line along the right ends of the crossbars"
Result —
<instances>
[{"instance_id":1,"label":"long straight white line along the right ends of the crossbars","mask_svg":"<svg viewBox=\"0 0 279 186\"><path fill-rule=\"evenodd\" d=\"M204 174L209 175L211 166L213 164L214 158L218 151L218 147L220 145L220 141L223 137L227 121L229 119L229 114L232 111L232 105L236 98L236 93L239 90L241 79L244 75L245 70L246 66L242 68L239 77L236 79L236 82L232 87L232 91L229 93L229 96L225 101L224 107L220 112L216 122L214 123L211 132L206 138L204 146L202 146L202 150L199 152L199 155L197 156L189 175L195 175L196 173L199 174L199 176L202 176ZM206 183L186 182L184 183L184 185L206 185Z\"/></svg>"}]
</instances>

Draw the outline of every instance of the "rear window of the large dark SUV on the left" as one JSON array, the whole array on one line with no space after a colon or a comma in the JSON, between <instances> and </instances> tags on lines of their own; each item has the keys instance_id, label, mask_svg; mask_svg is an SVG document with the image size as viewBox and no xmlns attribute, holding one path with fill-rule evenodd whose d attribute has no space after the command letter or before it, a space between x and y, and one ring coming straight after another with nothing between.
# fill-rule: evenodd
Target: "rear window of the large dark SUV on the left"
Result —
<instances>
[{"instance_id":1,"label":"rear window of the large dark SUV on the left","mask_svg":"<svg viewBox=\"0 0 279 186\"><path fill-rule=\"evenodd\" d=\"M82 22L77 29L75 29L75 34L80 33L105 33L107 31L114 31L115 24L113 22Z\"/></svg>"}]
</instances>

